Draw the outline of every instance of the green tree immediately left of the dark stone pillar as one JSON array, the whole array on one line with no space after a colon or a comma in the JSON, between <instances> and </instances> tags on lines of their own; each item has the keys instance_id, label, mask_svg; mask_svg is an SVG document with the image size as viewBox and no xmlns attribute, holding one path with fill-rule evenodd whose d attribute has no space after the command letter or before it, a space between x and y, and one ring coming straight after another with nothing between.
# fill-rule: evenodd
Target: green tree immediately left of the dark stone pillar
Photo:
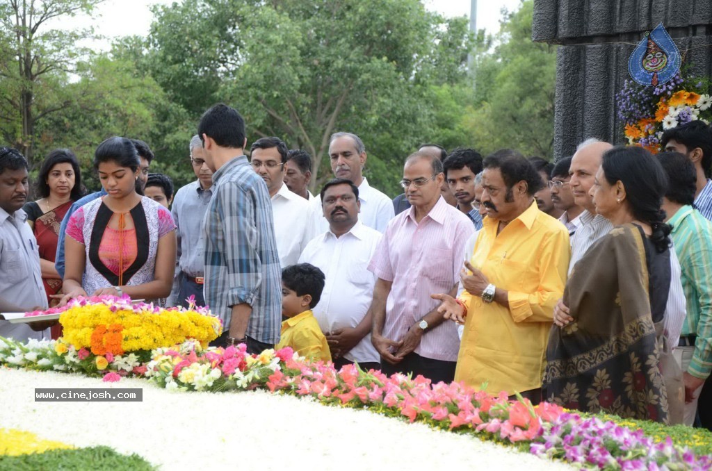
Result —
<instances>
[{"instance_id":1,"label":"green tree immediately left of the dark stone pillar","mask_svg":"<svg viewBox=\"0 0 712 471\"><path fill-rule=\"evenodd\" d=\"M483 153L504 147L551 159L556 48L533 43L533 0L506 13L493 52L476 56L476 86L463 126Z\"/></svg>"}]
</instances>

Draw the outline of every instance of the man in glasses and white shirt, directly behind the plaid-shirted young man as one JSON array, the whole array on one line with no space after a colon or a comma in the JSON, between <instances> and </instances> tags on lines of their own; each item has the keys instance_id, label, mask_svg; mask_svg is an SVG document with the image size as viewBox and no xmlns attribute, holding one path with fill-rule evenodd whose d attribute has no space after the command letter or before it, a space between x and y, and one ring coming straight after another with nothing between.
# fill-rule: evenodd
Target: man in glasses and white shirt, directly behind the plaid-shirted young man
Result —
<instances>
[{"instance_id":1,"label":"man in glasses and white shirt, directly behind the plaid-shirted young man","mask_svg":"<svg viewBox=\"0 0 712 471\"><path fill-rule=\"evenodd\" d=\"M263 137L250 148L250 165L267 184L272 200L274 234L282 268L294 265L314 236L312 209L307 200L284 184L287 145L278 137Z\"/></svg>"}]
</instances>

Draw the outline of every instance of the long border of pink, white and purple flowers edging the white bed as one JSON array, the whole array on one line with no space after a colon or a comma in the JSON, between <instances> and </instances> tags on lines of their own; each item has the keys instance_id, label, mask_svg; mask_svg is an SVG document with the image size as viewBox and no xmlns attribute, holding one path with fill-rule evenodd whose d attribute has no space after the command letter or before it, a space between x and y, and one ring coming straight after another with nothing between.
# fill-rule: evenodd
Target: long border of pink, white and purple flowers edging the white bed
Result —
<instances>
[{"instance_id":1,"label":"long border of pink, white and purple flowers edging the white bed","mask_svg":"<svg viewBox=\"0 0 712 471\"><path fill-rule=\"evenodd\" d=\"M612 420L582 418L551 403L538 406L525 399L508 401L506 393L491 396L462 383L432 384L418 376L386 376L356 365L336 370L330 362L312 362L290 348L248 354L246 346L204 348L189 340L150 352L91 356L63 340L27 344L0 337L0 364L38 370L103 374L104 381L145 376L175 391L246 391L310 397L320 403L367 408L375 413L420 421L434 428L473 433L511 443L535 455L555 457L580 467L604 469L712 469L711 455L696 455L669 437L662 440L634 432ZM617 419L622 422L622 419ZM709 453L712 440L696 446Z\"/></svg>"}]
</instances>

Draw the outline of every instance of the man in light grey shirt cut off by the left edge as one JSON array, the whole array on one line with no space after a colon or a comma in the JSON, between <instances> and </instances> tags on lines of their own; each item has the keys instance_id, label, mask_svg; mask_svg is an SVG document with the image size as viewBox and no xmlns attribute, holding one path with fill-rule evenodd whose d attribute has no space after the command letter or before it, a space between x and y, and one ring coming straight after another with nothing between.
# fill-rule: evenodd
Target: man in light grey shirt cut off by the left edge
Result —
<instances>
[{"instance_id":1,"label":"man in light grey shirt cut off by the left edge","mask_svg":"<svg viewBox=\"0 0 712 471\"><path fill-rule=\"evenodd\" d=\"M37 241L22 206L27 201L25 158L16 149L0 147L0 312L47 309ZM21 342L42 339L33 329L46 326L0 320L0 336ZM45 332L48 334L48 331Z\"/></svg>"}]
</instances>

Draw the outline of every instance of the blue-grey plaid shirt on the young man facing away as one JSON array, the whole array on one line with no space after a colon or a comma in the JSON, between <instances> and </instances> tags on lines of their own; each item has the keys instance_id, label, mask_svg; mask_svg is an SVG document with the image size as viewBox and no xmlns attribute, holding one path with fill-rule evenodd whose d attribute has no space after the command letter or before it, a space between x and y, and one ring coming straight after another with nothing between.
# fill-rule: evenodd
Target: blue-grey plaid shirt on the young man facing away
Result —
<instances>
[{"instance_id":1,"label":"blue-grey plaid shirt on the young man facing away","mask_svg":"<svg viewBox=\"0 0 712 471\"><path fill-rule=\"evenodd\" d=\"M222 319L225 331L232 306L251 305L246 334L277 344L282 292L272 203L267 185L244 155L213 174L204 231L206 304Z\"/></svg>"}]
</instances>

